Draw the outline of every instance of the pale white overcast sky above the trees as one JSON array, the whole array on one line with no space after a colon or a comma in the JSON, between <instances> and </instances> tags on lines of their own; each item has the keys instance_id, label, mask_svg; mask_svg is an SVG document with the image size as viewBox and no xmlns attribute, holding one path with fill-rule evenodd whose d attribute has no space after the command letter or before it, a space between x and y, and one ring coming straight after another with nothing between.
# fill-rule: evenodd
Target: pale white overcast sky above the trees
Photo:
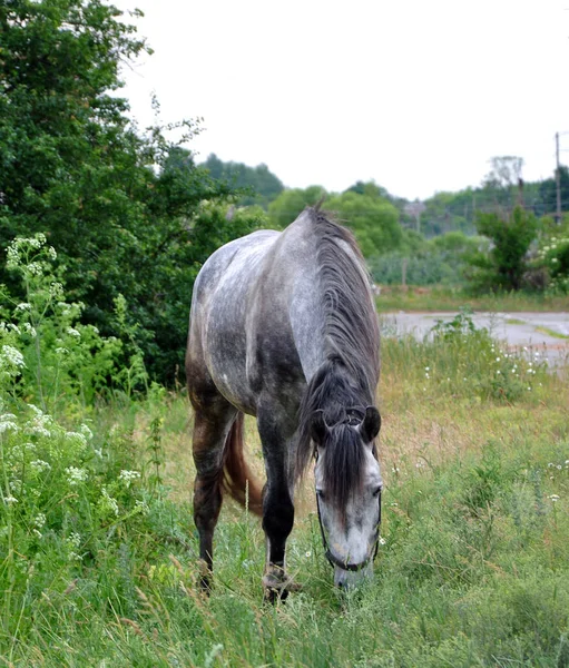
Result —
<instances>
[{"instance_id":1,"label":"pale white overcast sky above the trees","mask_svg":"<svg viewBox=\"0 0 569 668\"><path fill-rule=\"evenodd\" d=\"M122 68L140 126L199 117L202 161L287 187L374 180L425 199L493 156L569 163L569 0L114 0L154 49Z\"/></svg>"}]
</instances>

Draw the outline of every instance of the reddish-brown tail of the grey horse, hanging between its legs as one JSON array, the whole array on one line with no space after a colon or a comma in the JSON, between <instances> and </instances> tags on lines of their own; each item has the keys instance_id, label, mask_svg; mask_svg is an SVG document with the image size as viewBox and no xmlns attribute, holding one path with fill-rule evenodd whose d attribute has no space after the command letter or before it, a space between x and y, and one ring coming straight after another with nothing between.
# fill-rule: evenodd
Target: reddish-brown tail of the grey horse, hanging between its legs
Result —
<instances>
[{"instance_id":1,"label":"reddish-brown tail of the grey horse, hanging between its legs","mask_svg":"<svg viewBox=\"0 0 569 668\"><path fill-rule=\"evenodd\" d=\"M222 485L244 508L261 517L261 488L243 455L243 413L238 413L225 441Z\"/></svg>"}]
</instances>

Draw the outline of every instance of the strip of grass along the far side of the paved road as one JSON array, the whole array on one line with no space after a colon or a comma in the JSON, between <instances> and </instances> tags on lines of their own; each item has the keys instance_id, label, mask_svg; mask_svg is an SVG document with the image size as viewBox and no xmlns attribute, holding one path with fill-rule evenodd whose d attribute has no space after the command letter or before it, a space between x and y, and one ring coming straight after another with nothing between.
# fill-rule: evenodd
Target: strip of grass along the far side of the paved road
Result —
<instances>
[{"instance_id":1,"label":"strip of grass along the far side of the paved road","mask_svg":"<svg viewBox=\"0 0 569 668\"><path fill-rule=\"evenodd\" d=\"M382 286L376 298L380 313L390 311L458 311L469 306L472 311L523 312L567 311L569 296L546 296L531 293L490 294L479 297L461 288Z\"/></svg>"}]
</instances>

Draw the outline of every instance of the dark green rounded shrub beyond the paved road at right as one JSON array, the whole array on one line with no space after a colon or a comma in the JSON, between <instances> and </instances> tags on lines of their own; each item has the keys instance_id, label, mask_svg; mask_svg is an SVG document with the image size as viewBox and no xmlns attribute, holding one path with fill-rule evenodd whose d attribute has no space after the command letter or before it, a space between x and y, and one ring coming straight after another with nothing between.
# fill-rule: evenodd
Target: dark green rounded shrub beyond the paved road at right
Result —
<instances>
[{"instance_id":1,"label":"dark green rounded shrub beyond the paved road at right","mask_svg":"<svg viewBox=\"0 0 569 668\"><path fill-rule=\"evenodd\" d=\"M488 253L472 253L468 258L473 289L520 289L528 268L528 250L537 235L533 214L519 206L510 216L479 214L477 229L491 239L492 247Z\"/></svg>"}]
</instances>

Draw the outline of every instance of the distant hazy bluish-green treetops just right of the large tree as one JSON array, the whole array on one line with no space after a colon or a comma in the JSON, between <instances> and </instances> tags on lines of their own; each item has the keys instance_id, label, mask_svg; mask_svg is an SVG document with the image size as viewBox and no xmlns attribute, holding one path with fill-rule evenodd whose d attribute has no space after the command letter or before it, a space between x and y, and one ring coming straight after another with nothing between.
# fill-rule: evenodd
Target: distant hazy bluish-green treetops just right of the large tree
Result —
<instances>
[{"instance_id":1,"label":"distant hazy bluish-green treetops just right of the large tree","mask_svg":"<svg viewBox=\"0 0 569 668\"><path fill-rule=\"evenodd\" d=\"M212 178L227 181L230 187L248 190L238 204L242 206L261 205L264 209L275 199L284 186L266 165L247 167L243 163L224 163L215 154L207 157L203 164Z\"/></svg>"}]
</instances>

